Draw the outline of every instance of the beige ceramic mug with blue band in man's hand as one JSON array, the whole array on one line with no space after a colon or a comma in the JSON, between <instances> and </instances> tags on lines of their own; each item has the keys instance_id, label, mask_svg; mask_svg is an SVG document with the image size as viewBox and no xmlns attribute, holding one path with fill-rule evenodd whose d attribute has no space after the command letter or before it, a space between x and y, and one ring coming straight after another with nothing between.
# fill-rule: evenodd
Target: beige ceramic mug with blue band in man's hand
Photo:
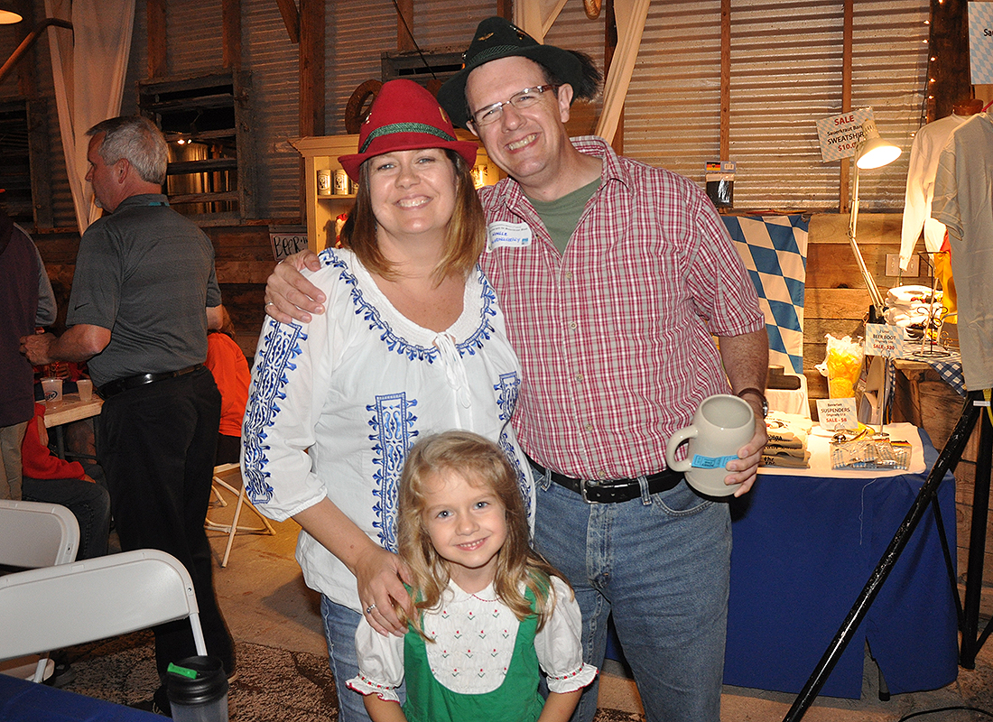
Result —
<instances>
[{"instance_id":1,"label":"beige ceramic mug with blue band in man's hand","mask_svg":"<svg viewBox=\"0 0 993 722\"><path fill-rule=\"evenodd\" d=\"M738 458L738 450L755 435L755 412L748 401L719 393L703 399L693 414L693 422L669 437L665 445L665 463L682 472L686 483L709 497L727 497L740 484L728 486L729 462ZM689 453L676 461L676 449L687 444Z\"/></svg>"}]
</instances>

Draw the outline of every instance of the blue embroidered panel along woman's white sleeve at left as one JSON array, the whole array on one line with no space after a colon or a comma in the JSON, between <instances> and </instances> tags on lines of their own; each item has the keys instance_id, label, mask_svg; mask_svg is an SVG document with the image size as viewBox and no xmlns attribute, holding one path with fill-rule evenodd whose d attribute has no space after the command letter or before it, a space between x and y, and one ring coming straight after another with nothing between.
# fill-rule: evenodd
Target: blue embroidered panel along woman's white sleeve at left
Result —
<instances>
[{"instance_id":1,"label":"blue embroidered panel along woman's white sleeve at left","mask_svg":"<svg viewBox=\"0 0 993 722\"><path fill-rule=\"evenodd\" d=\"M255 361L257 370L249 391L242 432L245 494L256 505L272 501L272 487L267 481L270 474L265 471L269 463L265 430L272 426L279 413L279 401L286 398L283 390L287 381L286 371L296 368L293 360L302 353L300 342L307 339L296 324L278 324L272 320L267 323L268 331L262 338Z\"/></svg>"}]
</instances>

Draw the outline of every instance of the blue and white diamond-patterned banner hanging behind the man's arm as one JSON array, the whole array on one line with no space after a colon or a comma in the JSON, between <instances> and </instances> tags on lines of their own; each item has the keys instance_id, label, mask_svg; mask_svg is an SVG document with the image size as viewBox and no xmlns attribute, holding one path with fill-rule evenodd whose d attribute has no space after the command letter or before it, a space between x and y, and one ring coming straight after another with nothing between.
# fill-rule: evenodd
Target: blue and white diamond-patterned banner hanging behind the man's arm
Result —
<instances>
[{"instance_id":1,"label":"blue and white diamond-patterned banner hanging behind the man's arm","mask_svg":"<svg viewBox=\"0 0 993 722\"><path fill-rule=\"evenodd\" d=\"M769 362L803 372L805 216L722 216L766 314Z\"/></svg>"}]
</instances>

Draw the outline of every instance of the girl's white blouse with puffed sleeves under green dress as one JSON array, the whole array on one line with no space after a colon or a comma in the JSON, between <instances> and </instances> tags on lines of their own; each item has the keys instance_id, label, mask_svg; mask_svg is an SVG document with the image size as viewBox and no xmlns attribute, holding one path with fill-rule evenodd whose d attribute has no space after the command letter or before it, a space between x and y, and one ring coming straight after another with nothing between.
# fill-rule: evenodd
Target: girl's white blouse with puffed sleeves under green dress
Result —
<instances>
[{"instance_id":1,"label":"girl's white blouse with puffed sleeves under green dress","mask_svg":"<svg viewBox=\"0 0 993 722\"><path fill-rule=\"evenodd\" d=\"M555 609L535 635L534 649L549 690L572 692L592 682L597 668L583 663L582 619L572 590L558 577L552 577L552 585ZM469 594L449 582L440 609L424 616L424 632L435 640L425 644L435 679L461 694L497 689L513 656L517 627L517 618L497 599L492 584ZM383 637L362 617L355 650L358 676L347 682L349 687L400 701L396 688L403 681L403 638Z\"/></svg>"}]
</instances>

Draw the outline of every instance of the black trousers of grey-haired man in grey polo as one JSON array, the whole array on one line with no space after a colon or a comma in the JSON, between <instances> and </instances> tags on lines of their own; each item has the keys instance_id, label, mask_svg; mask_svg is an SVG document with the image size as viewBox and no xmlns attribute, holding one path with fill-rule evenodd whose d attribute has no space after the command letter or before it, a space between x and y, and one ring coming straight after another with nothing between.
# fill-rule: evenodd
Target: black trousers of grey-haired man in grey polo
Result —
<instances>
[{"instance_id":1,"label":"black trousers of grey-haired man in grey polo","mask_svg":"<svg viewBox=\"0 0 993 722\"><path fill-rule=\"evenodd\" d=\"M121 549L161 549L193 577L208 653L234 671L234 646L213 591L204 531L211 497L220 393L207 368L108 398L99 416L97 458L107 477ZM171 661L197 653L187 620L155 628L165 678Z\"/></svg>"}]
</instances>

